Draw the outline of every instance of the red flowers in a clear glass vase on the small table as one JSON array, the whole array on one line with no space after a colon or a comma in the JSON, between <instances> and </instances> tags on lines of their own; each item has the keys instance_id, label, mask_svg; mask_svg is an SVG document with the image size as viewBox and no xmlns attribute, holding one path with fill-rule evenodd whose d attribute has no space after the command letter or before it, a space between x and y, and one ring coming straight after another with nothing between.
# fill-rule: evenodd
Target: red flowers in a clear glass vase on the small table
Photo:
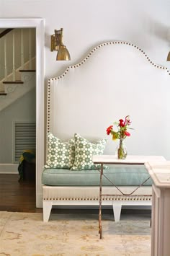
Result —
<instances>
[{"instance_id":1,"label":"red flowers in a clear glass vase on the small table","mask_svg":"<svg viewBox=\"0 0 170 256\"><path fill-rule=\"evenodd\" d=\"M107 135L112 136L112 140L116 140L117 138L120 139L119 148L117 149L117 156L118 159L125 159L127 156L127 151L125 147L123 146L123 141L127 136L130 136L130 133L127 131L129 128L129 125L131 124L130 116L127 115L125 117L125 120L120 119L119 122L115 122L114 125L117 126L117 131L113 128L113 125L110 125L107 128Z\"/></svg>"}]
</instances>

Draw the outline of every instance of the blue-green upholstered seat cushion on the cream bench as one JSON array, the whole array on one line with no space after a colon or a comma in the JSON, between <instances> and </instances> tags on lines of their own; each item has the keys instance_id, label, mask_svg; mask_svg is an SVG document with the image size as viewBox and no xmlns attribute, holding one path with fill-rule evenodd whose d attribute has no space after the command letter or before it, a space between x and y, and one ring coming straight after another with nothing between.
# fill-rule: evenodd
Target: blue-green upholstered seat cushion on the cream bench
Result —
<instances>
[{"instance_id":1,"label":"blue-green upholstered seat cushion on the cream bench","mask_svg":"<svg viewBox=\"0 0 170 256\"><path fill-rule=\"evenodd\" d=\"M148 177L145 167L111 166L104 169L104 174L117 186L140 185ZM51 186L99 186L99 170L70 169L44 169L42 172L42 184ZM103 177L103 185L110 186L110 182ZM151 178L144 185L152 185Z\"/></svg>"}]
</instances>

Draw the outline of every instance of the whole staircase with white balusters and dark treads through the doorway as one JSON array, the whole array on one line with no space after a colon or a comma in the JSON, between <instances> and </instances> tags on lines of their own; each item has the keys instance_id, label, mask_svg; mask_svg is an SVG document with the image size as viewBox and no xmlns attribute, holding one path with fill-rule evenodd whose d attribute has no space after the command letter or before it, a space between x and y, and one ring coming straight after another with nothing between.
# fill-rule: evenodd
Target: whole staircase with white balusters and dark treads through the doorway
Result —
<instances>
[{"instance_id":1,"label":"whole staircase with white balusters and dark treads through the doorway","mask_svg":"<svg viewBox=\"0 0 170 256\"><path fill-rule=\"evenodd\" d=\"M35 87L35 29L0 30L0 111Z\"/></svg>"}]
</instances>

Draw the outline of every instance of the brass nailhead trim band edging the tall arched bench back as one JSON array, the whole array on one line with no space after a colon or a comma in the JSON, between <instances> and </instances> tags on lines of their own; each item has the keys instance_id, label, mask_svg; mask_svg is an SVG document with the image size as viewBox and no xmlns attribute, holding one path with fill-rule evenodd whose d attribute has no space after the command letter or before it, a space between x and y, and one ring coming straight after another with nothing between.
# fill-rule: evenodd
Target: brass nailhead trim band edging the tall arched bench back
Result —
<instances>
[{"instance_id":1,"label":"brass nailhead trim band edging the tall arched bench back","mask_svg":"<svg viewBox=\"0 0 170 256\"><path fill-rule=\"evenodd\" d=\"M79 66L81 66L82 64L84 64L86 62L86 60L88 60L88 58L91 56L91 54L93 54L95 52L95 50L97 50L103 46L106 46L106 45L116 45L116 44L130 45L130 46L136 48L141 53L143 53L143 55L147 58L147 60L151 63L151 65L155 66L157 69L165 69L170 75L170 71L168 68L166 68L164 66L160 66L156 63L153 63L153 61L151 61L151 59L147 56L147 54L142 49L140 49L138 46L134 45L133 43L128 43L128 42L124 42L124 41L112 41L112 42L107 42L107 43L101 43L100 45L95 47L93 50L91 50L91 52L84 58L83 61L81 61L80 63L77 63L76 65L68 66L66 71L64 71L64 73L61 76L57 76L55 78L48 79L48 122L47 122L47 130L48 131L50 131L50 81L61 79L68 73L69 69L75 69L75 68L78 68Z\"/></svg>"}]
</instances>

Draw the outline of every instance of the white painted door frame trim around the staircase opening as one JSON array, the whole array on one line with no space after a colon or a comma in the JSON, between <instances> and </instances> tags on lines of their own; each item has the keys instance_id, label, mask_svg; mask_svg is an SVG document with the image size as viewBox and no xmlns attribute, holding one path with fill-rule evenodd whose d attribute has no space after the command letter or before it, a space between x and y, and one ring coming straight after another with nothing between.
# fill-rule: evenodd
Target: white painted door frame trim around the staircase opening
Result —
<instances>
[{"instance_id":1,"label":"white painted door frame trim around the staircase opening","mask_svg":"<svg viewBox=\"0 0 170 256\"><path fill-rule=\"evenodd\" d=\"M41 173L44 165L44 19L0 19L0 28L36 29L36 207L42 207Z\"/></svg>"}]
</instances>

